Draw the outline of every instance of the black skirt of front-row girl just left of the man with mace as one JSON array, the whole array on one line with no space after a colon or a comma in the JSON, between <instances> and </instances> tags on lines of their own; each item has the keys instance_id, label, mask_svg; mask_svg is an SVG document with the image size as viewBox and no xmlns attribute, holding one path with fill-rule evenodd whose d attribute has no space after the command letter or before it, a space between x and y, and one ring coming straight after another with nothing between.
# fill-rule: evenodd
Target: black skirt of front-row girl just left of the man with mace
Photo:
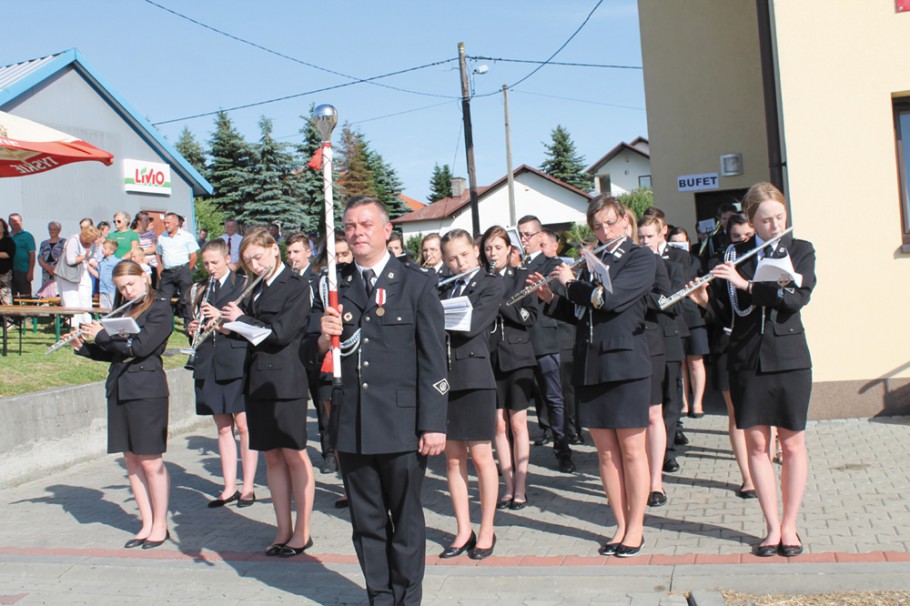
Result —
<instances>
[{"instance_id":1,"label":"black skirt of front-row girl just left of the man with mace","mask_svg":"<svg viewBox=\"0 0 910 606\"><path fill-rule=\"evenodd\" d=\"M250 428L250 448L274 450L306 448L307 398L294 400L247 399L246 420Z\"/></svg>"}]
</instances>

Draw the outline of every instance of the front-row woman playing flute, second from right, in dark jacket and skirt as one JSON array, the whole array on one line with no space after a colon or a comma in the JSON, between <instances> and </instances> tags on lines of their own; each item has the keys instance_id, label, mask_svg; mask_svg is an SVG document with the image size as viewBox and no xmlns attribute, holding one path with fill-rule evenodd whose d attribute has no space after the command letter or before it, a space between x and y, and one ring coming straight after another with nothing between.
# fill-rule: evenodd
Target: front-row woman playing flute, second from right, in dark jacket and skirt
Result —
<instances>
[{"instance_id":1,"label":"front-row woman playing flute, second from right, in dark jacket and skirt","mask_svg":"<svg viewBox=\"0 0 910 606\"><path fill-rule=\"evenodd\" d=\"M586 269L576 280L563 264L554 275L566 296L547 286L538 288L537 295L546 303L544 313L577 325L573 379L578 416L591 430L601 482L616 518L616 532L599 552L627 557L644 544L651 362L642 324L657 256L625 236L626 209L616 198L595 197L587 218L600 242L612 242L602 255L610 284Z\"/></svg>"}]
</instances>

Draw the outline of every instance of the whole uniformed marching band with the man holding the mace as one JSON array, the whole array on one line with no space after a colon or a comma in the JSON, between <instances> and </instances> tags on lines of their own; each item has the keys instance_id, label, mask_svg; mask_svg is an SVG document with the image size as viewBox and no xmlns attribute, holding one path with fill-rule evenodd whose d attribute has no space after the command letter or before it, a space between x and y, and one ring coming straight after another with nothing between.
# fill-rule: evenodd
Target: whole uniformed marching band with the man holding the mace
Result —
<instances>
[{"instance_id":1,"label":"whole uniformed marching band with the man holding the mace","mask_svg":"<svg viewBox=\"0 0 910 606\"><path fill-rule=\"evenodd\" d=\"M489 557L497 509L531 500L533 400L561 471L575 470L570 445L582 440L580 428L590 433L615 524L599 553L633 556L645 546L646 509L667 502L662 475L678 469L672 449L685 440L681 412L702 414L710 353L731 417L738 494L757 497L767 526L755 553L798 555L812 383L800 310L815 286L815 253L787 229L786 200L774 186L756 184L742 207L744 214L724 217L703 255L688 250L685 230L670 231L659 210L638 218L599 195L587 211L599 243L575 266L555 256L555 234L534 217L518 224L524 258L509 232L492 226L476 238L459 229L428 238L415 263L387 249L392 226L382 203L354 198L343 233L329 234L339 261L337 305L328 269L309 264L305 237L288 240L289 266L267 230L249 231L240 245L243 274L232 269L223 240L208 242L209 276L192 290L187 332L197 412L212 415L218 430L224 487L209 506L254 504L262 452L276 518L265 554L293 557L313 546L312 399L323 458L337 462L344 480L339 505L350 508L371 603L417 604L427 457L445 454L454 512L440 557ZM161 356L172 311L145 275L132 261L114 269L115 305L132 302L123 316L134 329L108 332L96 321L70 340L77 354L110 363L108 451L125 453L142 521L125 547L151 549L169 538ZM471 310L457 326L444 311L456 303ZM333 339L340 383L325 365ZM477 526L468 459L479 487Z\"/></svg>"}]
</instances>

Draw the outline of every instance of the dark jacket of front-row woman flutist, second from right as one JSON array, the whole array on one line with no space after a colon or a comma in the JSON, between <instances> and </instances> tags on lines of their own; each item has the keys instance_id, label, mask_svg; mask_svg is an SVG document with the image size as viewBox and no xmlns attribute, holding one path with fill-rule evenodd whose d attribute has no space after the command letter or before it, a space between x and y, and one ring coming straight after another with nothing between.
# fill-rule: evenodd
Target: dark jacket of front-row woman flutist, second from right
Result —
<instances>
[{"instance_id":1,"label":"dark jacket of front-row woman flutist, second from right","mask_svg":"<svg viewBox=\"0 0 910 606\"><path fill-rule=\"evenodd\" d=\"M604 293L600 309L591 305L597 285L587 270L569 283L566 296L557 295L545 312L576 323L576 385L643 379L651 376L651 360L644 334L645 297L654 285L657 255L624 240L604 259L610 268L613 292ZM584 310L579 320L576 306Z\"/></svg>"}]
</instances>

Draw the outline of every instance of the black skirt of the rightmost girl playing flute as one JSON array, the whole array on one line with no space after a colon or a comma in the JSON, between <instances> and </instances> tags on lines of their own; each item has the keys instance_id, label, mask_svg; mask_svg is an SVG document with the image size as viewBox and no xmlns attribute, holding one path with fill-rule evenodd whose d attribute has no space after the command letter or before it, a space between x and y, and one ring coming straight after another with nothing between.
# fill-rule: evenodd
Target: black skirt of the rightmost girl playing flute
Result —
<instances>
[{"instance_id":1,"label":"black skirt of the rightmost girl playing flute","mask_svg":"<svg viewBox=\"0 0 910 606\"><path fill-rule=\"evenodd\" d=\"M760 425L804 431L812 395L812 369L730 373L736 427Z\"/></svg>"}]
</instances>

